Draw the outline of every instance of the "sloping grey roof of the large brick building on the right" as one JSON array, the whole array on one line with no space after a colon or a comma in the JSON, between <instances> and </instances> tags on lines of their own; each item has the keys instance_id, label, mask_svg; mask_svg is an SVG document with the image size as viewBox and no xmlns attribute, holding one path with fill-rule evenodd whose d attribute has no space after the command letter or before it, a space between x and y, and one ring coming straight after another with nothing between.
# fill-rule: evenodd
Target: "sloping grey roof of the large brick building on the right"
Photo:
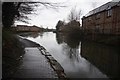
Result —
<instances>
[{"instance_id":1,"label":"sloping grey roof of the large brick building on the right","mask_svg":"<svg viewBox=\"0 0 120 80\"><path fill-rule=\"evenodd\" d=\"M120 1L119 2L108 2L92 11L90 11L88 14L85 15L85 17L88 17L90 15L96 14L98 12L104 11L104 10L108 10L111 9L114 6L120 6Z\"/></svg>"}]
</instances>

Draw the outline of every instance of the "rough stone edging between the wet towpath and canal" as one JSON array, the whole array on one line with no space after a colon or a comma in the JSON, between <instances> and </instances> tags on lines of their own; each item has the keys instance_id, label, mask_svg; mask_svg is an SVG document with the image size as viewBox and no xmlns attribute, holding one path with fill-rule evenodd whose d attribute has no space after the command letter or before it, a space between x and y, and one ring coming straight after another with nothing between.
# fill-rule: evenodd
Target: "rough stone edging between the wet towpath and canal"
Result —
<instances>
[{"instance_id":1,"label":"rough stone edging between the wet towpath and canal","mask_svg":"<svg viewBox=\"0 0 120 80\"><path fill-rule=\"evenodd\" d=\"M57 73L58 78L60 78L62 80L67 79L63 67L60 65L60 63L56 59L54 59L54 57L52 57L52 55L43 46L41 46L40 44L38 44L34 41L31 41L29 39L23 38L22 36L18 36L18 37L36 44L37 45L36 47L39 49L41 54L45 56L45 58L47 59L47 61L50 64L51 68Z\"/></svg>"}]
</instances>

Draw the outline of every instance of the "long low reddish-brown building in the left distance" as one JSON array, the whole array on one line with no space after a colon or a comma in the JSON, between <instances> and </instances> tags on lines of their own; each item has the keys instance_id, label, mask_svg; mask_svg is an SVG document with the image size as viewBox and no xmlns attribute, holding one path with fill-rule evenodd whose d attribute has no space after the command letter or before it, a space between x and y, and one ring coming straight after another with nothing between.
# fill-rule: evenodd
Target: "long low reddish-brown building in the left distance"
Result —
<instances>
[{"instance_id":1,"label":"long low reddish-brown building in the left distance","mask_svg":"<svg viewBox=\"0 0 120 80\"><path fill-rule=\"evenodd\" d=\"M37 27L37 26L27 26L27 25L17 25L14 27L14 30L16 31L29 31L29 32L37 32L42 31L43 28Z\"/></svg>"}]
</instances>

